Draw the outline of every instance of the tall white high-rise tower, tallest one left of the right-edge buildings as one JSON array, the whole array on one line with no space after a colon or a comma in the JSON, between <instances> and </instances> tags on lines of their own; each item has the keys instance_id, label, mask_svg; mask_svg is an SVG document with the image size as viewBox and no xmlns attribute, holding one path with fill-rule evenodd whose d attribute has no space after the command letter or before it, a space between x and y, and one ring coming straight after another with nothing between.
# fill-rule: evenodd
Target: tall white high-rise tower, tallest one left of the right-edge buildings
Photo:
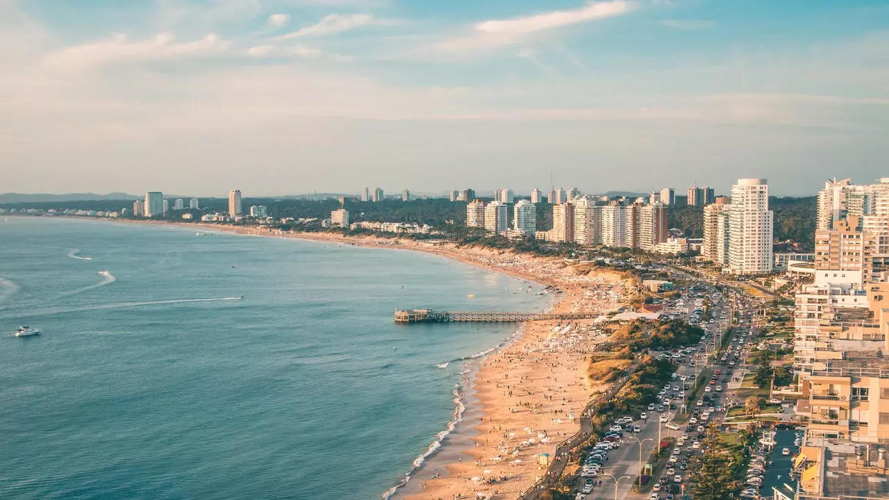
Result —
<instances>
[{"instance_id":1,"label":"tall white high-rise tower, tallest one left of the right-edge buildings","mask_svg":"<svg viewBox=\"0 0 889 500\"><path fill-rule=\"evenodd\" d=\"M728 266L733 274L765 274L774 263L774 214L765 179L739 179L729 209Z\"/></svg>"}]
</instances>

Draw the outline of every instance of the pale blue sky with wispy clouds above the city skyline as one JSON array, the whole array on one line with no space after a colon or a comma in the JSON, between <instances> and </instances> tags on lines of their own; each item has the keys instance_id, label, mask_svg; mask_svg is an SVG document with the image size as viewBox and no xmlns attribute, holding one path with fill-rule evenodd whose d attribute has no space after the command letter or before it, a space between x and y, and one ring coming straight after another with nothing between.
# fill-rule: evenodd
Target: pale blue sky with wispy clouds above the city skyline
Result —
<instances>
[{"instance_id":1,"label":"pale blue sky with wispy clouds above the city skyline","mask_svg":"<svg viewBox=\"0 0 889 500\"><path fill-rule=\"evenodd\" d=\"M0 192L889 176L889 2L0 0Z\"/></svg>"}]
</instances>

